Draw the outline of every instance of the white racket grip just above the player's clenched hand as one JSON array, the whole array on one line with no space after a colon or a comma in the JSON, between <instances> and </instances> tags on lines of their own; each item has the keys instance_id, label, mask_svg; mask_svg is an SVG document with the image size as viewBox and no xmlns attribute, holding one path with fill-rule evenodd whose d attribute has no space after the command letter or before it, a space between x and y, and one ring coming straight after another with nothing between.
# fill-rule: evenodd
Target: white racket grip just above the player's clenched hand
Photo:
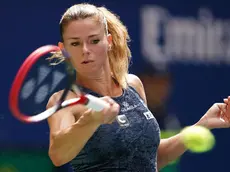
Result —
<instances>
[{"instance_id":1,"label":"white racket grip just above the player's clenched hand","mask_svg":"<svg viewBox=\"0 0 230 172\"><path fill-rule=\"evenodd\" d=\"M94 96L89 95L89 94L85 95L85 97L87 97L89 100L86 106L88 108L95 110L95 111L101 111L105 107L109 107L108 103L99 99L98 97L94 97Z\"/></svg>"}]
</instances>

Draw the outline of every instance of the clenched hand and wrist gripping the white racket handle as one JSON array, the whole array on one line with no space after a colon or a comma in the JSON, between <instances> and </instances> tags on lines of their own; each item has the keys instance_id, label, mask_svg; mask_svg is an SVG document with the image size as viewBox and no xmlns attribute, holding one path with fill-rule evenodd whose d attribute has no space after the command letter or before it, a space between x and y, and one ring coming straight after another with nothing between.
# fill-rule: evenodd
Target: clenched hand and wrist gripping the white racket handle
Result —
<instances>
[{"instance_id":1,"label":"clenched hand and wrist gripping the white racket handle","mask_svg":"<svg viewBox=\"0 0 230 172\"><path fill-rule=\"evenodd\" d=\"M109 106L105 107L100 112L93 111L92 109L87 109L81 114L77 122L81 124L86 124L89 122L95 122L99 125L111 124L116 119L120 110L120 106L108 96L102 97L101 99L107 102Z\"/></svg>"}]
</instances>

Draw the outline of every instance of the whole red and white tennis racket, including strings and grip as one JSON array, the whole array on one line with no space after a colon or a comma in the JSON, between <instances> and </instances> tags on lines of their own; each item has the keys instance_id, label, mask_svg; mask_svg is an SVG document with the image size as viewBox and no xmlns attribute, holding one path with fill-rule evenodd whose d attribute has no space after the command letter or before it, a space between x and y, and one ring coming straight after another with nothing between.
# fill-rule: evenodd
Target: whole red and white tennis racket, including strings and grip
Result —
<instances>
[{"instance_id":1,"label":"whole red and white tennis racket, including strings and grip","mask_svg":"<svg viewBox=\"0 0 230 172\"><path fill-rule=\"evenodd\" d=\"M85 105L95 111L101 111L108 106L98 97L81 91L75 82L75 71L66 62L50 65L47 57L56 51L60 51L58 46L42 46L32 52L19 68L9 94L10 110L18 120L25 123L40 122L59 109L76 104ZM62 54L68 58L65 52ZM57 103L45 110L49 97L63 87L65 89ZM79 97L65 100L69 90Z\"/></svg>"}]
</instances>

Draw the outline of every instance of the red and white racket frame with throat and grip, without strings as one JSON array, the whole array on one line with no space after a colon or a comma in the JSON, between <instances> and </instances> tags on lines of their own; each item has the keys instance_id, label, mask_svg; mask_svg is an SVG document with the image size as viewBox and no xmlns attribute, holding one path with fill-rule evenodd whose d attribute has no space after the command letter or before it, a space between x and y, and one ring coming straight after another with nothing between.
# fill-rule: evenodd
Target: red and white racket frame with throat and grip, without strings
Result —
<instances>
[{"instance_id":1,"label":"red and white racket frame with throat and grip, without strings","mask_svg":"<svg viewBox=\"0 0 230 172\"><path fill-rule=\"evenodd\" d=\"M45 45L34 52L32 52L26 60L23 62L21 67L19 68L17 75L14 78L14 81L12 83L10 94L9 94L9 108L12 112L13 116L19 119L22 122L25 123L34 123L34 122L40 122L42 120L47 119L51 115L53 115L55 112L57 112L61 108L65 108L67 106L72 106L76 104L83 104L87 106L88 108L92 108L95 111L101 111L105 107L108 107L109 104L104 102L103 100L89 95L81 93L80 89L77 87L75 83L75 75L72 71L66 70L68 75L68 84L66 88L64 89L64 92L62 93L61 98L57 102L56 105L52 106L51 108L45 110L42 113L36 114L34 116L29 116L20 111L19 108L19 101L18 98L20 96L20 89L22 87L23 81L26 78L27 73L30 71L32 66L45 54L48 54L50 52L60 51L60 48L55 45ZM65 100L69 90L73 88L74 92L79 95L78 98L73 98L69 100Z\"/></svg>"}]
</instances>

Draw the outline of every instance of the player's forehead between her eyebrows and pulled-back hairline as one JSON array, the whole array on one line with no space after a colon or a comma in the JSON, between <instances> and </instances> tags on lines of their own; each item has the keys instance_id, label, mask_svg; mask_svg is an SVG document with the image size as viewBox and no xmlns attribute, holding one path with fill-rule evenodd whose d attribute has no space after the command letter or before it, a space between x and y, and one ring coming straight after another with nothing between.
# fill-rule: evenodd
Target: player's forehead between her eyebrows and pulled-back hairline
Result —
<instances>
[{"instance_id":1,"label":"player's forehead between her eyebrows and pulled-back hairline","mask_svg":"<svg viewBox=\"0 0 230 172\"><path fill-rule=\"evenodd\" d=\"M103 33L104 29L102 23L98 20L87 18L69 22L64 29L63 37L84 37Z\"/></svg>"}]
</instances>

